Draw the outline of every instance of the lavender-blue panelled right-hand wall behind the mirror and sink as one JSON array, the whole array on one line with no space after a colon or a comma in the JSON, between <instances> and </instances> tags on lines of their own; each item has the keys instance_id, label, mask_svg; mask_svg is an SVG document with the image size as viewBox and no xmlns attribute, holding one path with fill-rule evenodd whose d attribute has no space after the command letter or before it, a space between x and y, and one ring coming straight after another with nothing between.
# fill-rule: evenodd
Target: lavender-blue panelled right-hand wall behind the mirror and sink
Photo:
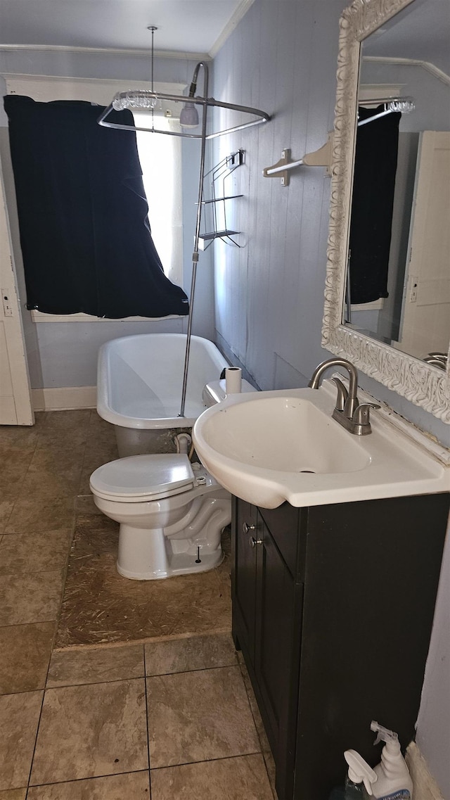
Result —
<instances>
[{"instance_id":1,"label":"lavender-blue panelled right-hand wall behind the mirror and sink","mask_svg":"<svg viewBox=\"0 0 450 800\"><path fill-rule=\"evenodd\" d=\"M233 222L243 232L244 246L216 246L217 340L263 389L305 386L317 363L330 357L321 348L329 178L321 167L302 167L283 188L279 179L263 178L261 170L277 162L285 147L294 158L316 150L333 128L338 18L344 5L340 0L255 0L214 61L215 97L274 114L265 126L217 141L217 159L245 149L235 186L245 197L233 201ZM360 385L450 446L450 426L362 374ZM450 797L450 709L442 699L448 699L448 550L418 740ZM437 706L440 713L434 714ZM438 741L447 751L436 746Z\"/></svg>"}]
</instances>

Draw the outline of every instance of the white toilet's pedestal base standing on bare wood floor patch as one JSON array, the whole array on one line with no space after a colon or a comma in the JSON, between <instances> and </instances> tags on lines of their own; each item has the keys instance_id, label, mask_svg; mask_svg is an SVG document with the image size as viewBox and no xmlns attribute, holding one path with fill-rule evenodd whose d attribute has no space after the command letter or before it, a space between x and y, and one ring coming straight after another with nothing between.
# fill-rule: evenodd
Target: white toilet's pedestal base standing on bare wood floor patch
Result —
<instances>
[{"instance_id":1,"label":"white toilet's pedestal base standing on bare wood floor patch","mask_svg":"<svg viewBox=\"0 0 450 800\"><path fill-rule=\"evenodd\" d=\"M161 528L148 530L122 523L117 572L134 581L153 581L213 570L224 558L220 537L217 539L217 546L201 537L172 543Z\"/></svg>"}]
</instances>

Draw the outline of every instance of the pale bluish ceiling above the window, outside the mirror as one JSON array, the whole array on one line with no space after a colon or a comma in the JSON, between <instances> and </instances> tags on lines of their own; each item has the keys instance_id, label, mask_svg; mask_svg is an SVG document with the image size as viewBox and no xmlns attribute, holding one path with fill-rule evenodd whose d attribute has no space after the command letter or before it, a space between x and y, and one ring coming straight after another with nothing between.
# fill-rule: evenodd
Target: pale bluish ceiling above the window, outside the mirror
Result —
<instances>
[{"instance_id":1,"label":"pale bluish ceiling above the window, outside the mirror","mask_svg":"<svg viewBox=\"0 0 450 800\"><path fill-rule=\"evenodd\" d=\"M253 0L0 0L0 45L214 54Z\"/></svg>"}]
</instances>

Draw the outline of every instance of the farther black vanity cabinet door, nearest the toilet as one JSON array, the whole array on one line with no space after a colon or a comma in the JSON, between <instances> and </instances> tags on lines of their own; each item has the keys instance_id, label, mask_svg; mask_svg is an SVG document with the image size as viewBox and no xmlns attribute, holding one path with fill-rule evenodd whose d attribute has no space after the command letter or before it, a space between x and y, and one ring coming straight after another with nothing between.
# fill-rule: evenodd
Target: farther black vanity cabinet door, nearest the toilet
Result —
<instances>
[{"instance_id":1,"label":"farther black vanity cabinet door, nearest the toilet","mask_svg":"<svg viewBox=\"0 0 450 800\"><path fill-rule=\"evenodd\" d=\"M257 509L234 500L232 537L233 638L253 666L255 657L257 585Z\"/></svg>"}]
</instances>

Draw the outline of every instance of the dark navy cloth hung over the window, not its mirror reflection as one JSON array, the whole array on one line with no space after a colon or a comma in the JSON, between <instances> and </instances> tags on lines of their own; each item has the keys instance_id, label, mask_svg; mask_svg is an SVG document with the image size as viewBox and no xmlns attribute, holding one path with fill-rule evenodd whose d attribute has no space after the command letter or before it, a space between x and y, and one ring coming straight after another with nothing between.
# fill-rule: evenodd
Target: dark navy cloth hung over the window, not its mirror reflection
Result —
<instances>
[{"instance_id":1,"label":"dark navy cloth hung over the window, not its mirror reflection","mask_svg":"<svg viewBox=\"0 0 450 800\"><path fill-rule=\"evenodd\" d=\"M133 131L99 126L102 109L90 102L9 95L5 110L26 307L109 318L188 314L153 244ZM133 125L129 111L119 116Z\"/></svg>"}]
</instances>

